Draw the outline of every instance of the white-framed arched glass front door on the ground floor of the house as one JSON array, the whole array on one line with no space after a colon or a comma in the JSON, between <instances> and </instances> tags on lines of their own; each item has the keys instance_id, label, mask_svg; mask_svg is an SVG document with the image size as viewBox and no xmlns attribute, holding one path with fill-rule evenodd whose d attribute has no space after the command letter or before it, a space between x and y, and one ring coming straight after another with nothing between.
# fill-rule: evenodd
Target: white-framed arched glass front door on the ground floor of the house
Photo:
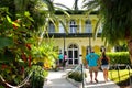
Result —
<instances>
[{"instance_id":1,"label":"white-framed arched glass front door on the ground floor of the house","mask_svg":"<svg viewBox=\"0 0 132 88\"><path fill-rule=\"evenodd\" d=\"M68 64L69 65L79 64L78 47L76 44L70 44L68 47Z\"/></svg>"}]
</instances>

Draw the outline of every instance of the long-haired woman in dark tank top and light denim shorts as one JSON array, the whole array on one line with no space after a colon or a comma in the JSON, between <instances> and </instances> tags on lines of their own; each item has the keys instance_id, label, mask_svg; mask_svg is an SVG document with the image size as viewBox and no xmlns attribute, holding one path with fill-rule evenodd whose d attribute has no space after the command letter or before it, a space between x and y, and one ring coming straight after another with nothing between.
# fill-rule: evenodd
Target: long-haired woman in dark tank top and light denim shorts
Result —
<instances>
[{"instance_id":1,"label":"long-haired woman in dark tank top and light denim shorts","mask_svg":"<svg viewBox=\"0 0 132 88\"><path fill-rule=\"evenodd\" d=\"M108 81L110 58L106 55L106 52L102 52L102 56L100 57L100 61L101 61L101 69L103 70L105 81Z\"/></svg>"}]
</instances>

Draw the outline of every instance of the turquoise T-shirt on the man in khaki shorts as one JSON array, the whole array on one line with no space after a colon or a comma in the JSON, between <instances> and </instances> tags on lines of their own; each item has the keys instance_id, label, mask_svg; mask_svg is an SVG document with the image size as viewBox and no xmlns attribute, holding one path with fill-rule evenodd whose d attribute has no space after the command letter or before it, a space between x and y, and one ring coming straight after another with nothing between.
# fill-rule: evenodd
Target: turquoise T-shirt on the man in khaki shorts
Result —
<instances>
[{"instance_id":1,"label":"turquoise T-shirt on the man in khaki shorts","mask_svg":"<svg viewBox=\"0 0 132 88\"><path fill-rule=\"evenodd\" d=\"M96 53L90 53L90 54L88 54L86 56L86 59L87 59L88 65L90 67L97 66L98 65L99 55L97 55Z\"/></svg>"}]
</instances>

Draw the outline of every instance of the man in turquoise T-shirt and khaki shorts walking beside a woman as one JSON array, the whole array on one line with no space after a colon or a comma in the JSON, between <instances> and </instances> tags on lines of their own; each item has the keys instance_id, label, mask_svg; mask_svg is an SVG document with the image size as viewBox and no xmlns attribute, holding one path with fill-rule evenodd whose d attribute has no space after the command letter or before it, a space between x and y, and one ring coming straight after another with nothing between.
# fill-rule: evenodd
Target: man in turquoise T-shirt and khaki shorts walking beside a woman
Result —
<instances>
[{"instance_id":1,"label":"man in turquoise T-shirt and khaki shorts walking beside a woman","mask_svg":"<svg viewBox=\"0 0 132 88\"><path fill-rule=\"evenodd\" d=\"M90 73L90 82L92 82L92 73L95 73L95 81L98 82L97 75L98 75L98 62L99 55L94 52L94 50L86 55L87 65L89 66Z\"/></svg>"}]
</instances>

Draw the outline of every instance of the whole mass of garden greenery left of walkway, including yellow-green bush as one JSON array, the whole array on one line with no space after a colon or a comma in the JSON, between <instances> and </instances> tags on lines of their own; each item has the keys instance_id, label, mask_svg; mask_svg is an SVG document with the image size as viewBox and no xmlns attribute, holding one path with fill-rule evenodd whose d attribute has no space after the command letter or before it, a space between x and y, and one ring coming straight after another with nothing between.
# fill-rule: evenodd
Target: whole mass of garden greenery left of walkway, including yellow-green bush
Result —
<instances>
[{"instance_id":1,"label":"whole mass of garden greenery left of walkway, including yellow-green bush","mask_svg":"<svg viewBox=\"0 0 132 88\"><path fill-rule=\"evenodd\" d=\"M0 0L0 88L43 88L58 55L46 31L51 6L50 0Z\"/></svg>"}]
</instances>

